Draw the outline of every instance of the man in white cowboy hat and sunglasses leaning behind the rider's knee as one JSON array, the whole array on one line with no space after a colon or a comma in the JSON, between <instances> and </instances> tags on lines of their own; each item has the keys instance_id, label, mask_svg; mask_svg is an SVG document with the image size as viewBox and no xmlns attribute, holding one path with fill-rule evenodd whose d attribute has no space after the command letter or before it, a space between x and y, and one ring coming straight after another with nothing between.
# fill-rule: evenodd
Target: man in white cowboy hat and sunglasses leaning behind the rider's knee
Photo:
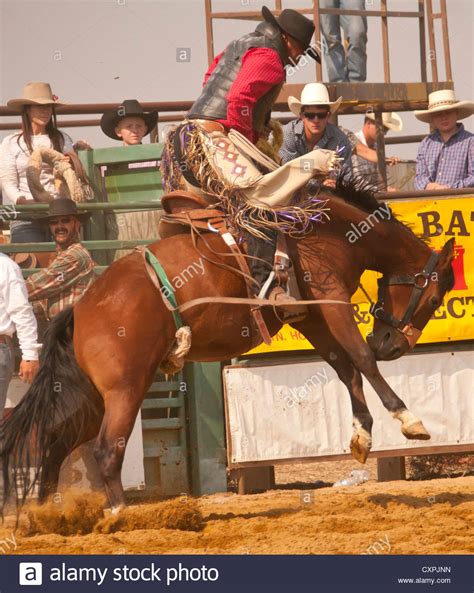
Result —
<instances>
[{"instance_id":1,"label":"man in white cowboy hat and sunglasses leaning behind the rider's knee","mask_svg":"<svg viewBox=\"0 0 474 593\"><path fill-rule=\"evenodd\" d=\"M329 100L329 94L320 82L305 85L301 98L290 96L288 106L298 119L290 121L283 127L283 145L280 156L287 163L303 156L316 148L339 150L344 159L343 167L351 168L352 148L349 138L342 130L328 122L329 116L336 113L342 97L336 101ZM310 163L308 163L310 166ZM327 179L325 185L334 186L333 179Z\"/></svg>"}]
</instances>

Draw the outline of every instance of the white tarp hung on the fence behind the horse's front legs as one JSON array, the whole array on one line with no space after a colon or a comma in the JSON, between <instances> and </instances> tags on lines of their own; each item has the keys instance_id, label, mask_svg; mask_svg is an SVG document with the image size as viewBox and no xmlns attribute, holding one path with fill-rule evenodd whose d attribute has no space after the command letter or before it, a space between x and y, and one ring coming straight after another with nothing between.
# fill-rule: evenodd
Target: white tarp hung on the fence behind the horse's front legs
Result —
<instances>
[{"instance_id":1,"label":"white tarp hung on the fence behind the horse's front legs","mask_svg":"<svg viewBox=\"0 0 474 593\"><path fill-rule=\"evenodd\" d=\"M430 441L408 441L364 379L373 451L474 443L474 353L415 354L379 369ZM226 367L230 463L350 453L349 393L326 362Z\"/></svg>"}]
</instances>

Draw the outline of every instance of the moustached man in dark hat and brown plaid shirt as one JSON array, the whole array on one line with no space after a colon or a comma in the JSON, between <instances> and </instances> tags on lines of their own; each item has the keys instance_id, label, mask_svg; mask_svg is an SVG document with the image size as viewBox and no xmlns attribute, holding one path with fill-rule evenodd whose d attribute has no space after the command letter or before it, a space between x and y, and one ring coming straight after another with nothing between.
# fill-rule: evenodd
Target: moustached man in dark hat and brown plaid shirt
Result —
<instances>
[{"instance_id":1,"label":"moustached man in dark hat and brown plaid shirt","mask_svg":"<svg viewBox=\"0 0 474 593\"><path fill-rule=\"evenodd\" d=\"M86 216L67 198L53 200L49 205L43 221L56 242L57 255L47 268L26 281L28 298L40 317L50 320L74 305L94 280L94 262L79 242L81 222Z\"/></svg>"}]
</instances>

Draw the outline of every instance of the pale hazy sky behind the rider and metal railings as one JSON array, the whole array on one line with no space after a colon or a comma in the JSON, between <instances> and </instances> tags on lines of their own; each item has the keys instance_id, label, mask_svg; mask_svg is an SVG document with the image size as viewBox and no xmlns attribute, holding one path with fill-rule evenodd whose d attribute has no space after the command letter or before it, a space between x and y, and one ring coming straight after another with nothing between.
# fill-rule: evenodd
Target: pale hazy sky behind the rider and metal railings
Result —
<instances>
[{"instance_id":1,"label":"pale hazy sky behind the rider and metal railings","mask_svg":"<svg viewBox=\"0 0 474 593\"><path fill-rule=\"evenodd\" d=\"M439 0L433 0L435 10ZM215 10L260 10L273 0L213 0ZM473 99L473 0L447 0L451 61L460 99ZM284 8L310 7L311 0L283 0ZM366 0L378 9L380 0ZM388 0L390 10L417 10L417 0ZM369 19L368 81L382 82L381 23ZM215 49L252 30L249 21L218 21ZM28 81L51 83L53 92L69 103L193 100L199 94L207 67L204 0L0 0L0 103L18 97ZM441 35L438 31L438 40ZM418 22L389 19L391 72L394 82L417 82L420 77ZM438 44L441 52L441 43ZM177 61L186 48L190 61ZM438 55L444 79L442 55ZM291 82L314 80L307 66ZM428 65L429 76L431 74ZM326 73L324 72L326 76ZM428 131L412 114L402 114L403 134ZM344 116L341 125L357 130L360 116ZM474 118L464 120L474 131ZM95 147L114 144L93 128L67 130ZM0 132L5 135L5 133ZM416 145L391 147L389 154L414 158Z\"/></svg>"}]
</instances>

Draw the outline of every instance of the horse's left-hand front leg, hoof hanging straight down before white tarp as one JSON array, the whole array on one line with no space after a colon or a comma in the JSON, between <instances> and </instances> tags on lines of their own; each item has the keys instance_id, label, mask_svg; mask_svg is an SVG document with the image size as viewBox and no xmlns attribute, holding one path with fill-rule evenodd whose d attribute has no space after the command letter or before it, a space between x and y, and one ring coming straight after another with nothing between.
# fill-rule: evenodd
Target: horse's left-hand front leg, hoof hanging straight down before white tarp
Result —
<instances>
[{"instance_id":1,"label":"horse's left-hand front leg, hoof hanging straight down before white tarp","mask_svg":"<svg viewBox=\"0 0 474 593\"><path fill-rule=\"evenodd\" d=\"M294 326L313 344L318 354L332 366L339 379L349 391L352 406L353 433L350 442L352 456L365 463L372 447L372 424L362 385L362 375L354 367L342 345L331 335L323 323L315 322L308 327L307 322Z\"/></svg>"}]
</instances>

